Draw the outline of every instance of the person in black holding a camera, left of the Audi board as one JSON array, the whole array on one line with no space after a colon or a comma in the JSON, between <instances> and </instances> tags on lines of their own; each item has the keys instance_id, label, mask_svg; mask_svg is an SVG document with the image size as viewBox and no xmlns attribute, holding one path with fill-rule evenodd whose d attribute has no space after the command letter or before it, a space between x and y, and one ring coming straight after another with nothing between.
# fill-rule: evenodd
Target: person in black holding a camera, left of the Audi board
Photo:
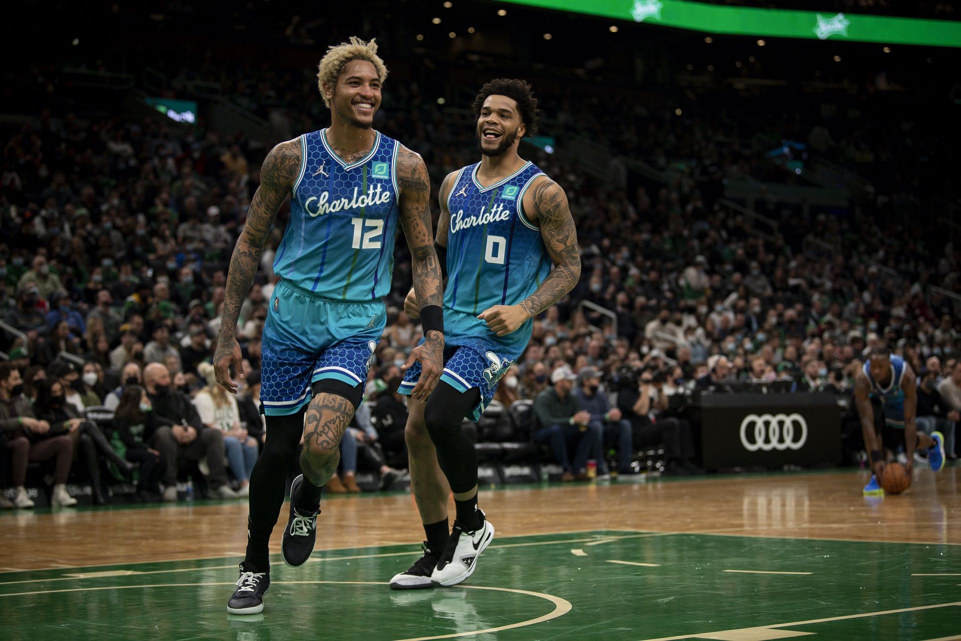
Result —
<instances>
[{"instance_id":1,"label":"person in black holding a camera, left of the Audi board","mask_svg":"<svg viewBox=\"0 0 961 641\"><path fill-rule=\"evenodd\" d=\"M664 445L664 474L694 474L698 467L690 424L659 415L668 408L667 374L666 370L643 370L634 384L626 384L618 393L617 406L630 424L635 448Z\"/></svg>"}]
</instances>

